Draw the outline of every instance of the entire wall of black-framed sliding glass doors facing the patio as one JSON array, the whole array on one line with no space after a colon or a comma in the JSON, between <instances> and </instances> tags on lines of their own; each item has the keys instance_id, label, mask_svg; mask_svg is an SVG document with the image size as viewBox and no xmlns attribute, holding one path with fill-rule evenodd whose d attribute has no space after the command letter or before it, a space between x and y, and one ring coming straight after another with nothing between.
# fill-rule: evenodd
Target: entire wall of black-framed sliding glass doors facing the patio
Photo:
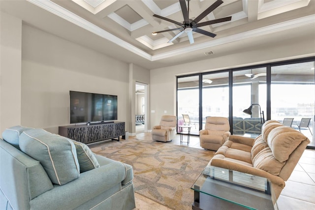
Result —
<instances>
[{"instance_id":1,"label":"entire wall of black-framed sliding glass doors facing the patio","mask_svg":"<svg viewBox=\"0 0 315 210\"><path fill-rule=\"evenodd\" d=\"M177 116L198 135L207 116L228 117L233 135L257 137L278 120L303 133L315 148L315 58L177 77Z\"/></svg>"}]
</instances>

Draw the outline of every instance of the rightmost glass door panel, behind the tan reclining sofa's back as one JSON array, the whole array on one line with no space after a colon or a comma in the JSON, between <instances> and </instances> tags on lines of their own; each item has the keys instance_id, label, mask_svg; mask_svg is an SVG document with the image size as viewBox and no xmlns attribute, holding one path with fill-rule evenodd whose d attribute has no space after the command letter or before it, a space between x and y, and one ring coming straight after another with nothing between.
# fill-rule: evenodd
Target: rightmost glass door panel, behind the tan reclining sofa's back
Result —
<instances>
[{"instance_id":1,"label":"rightmost glass door panel, behind the tan reclining sofa's back","mask_svg":"<svg viewBox=\"0 0 315 210\"><path fill-rule=\"evenodd\" d=\"M271 119L302 132L315 146L314 62L271 67Z\"/></svg>"}]
</instances>

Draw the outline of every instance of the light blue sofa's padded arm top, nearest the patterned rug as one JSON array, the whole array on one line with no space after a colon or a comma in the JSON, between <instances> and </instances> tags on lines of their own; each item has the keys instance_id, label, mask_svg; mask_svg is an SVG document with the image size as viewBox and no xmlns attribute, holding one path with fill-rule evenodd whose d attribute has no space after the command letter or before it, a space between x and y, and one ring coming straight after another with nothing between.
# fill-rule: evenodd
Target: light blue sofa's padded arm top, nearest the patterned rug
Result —
<instances>
[{"instance_id":1,"label":"light blue sofa's padded arm top, nearest the patterned rug","mask_svg":"<svg viewBox=\"0 0 315 210\"><path fill-rule=\"evenodd\" d=\"M84 172L79 178L64 185L54 185L53 189L30 201L31 209L75 209L107 190L115 193L114 186L121 184L125 176L125 165L115 161ZM121 187L117 189L120 190Z\"/></svg>"}]
</instances>

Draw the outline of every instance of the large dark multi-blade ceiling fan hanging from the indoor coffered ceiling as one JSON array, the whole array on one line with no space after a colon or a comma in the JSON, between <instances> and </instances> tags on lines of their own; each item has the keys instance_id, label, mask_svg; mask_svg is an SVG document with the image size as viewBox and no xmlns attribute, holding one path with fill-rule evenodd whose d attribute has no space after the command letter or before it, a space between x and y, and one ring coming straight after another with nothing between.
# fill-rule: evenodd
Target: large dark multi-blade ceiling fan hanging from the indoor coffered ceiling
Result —
<instances>
[{"instance_id":1,"label":"large dark multi-blade ceiling fan hanging from the indoor coffered ceiling","mask_svg":"<svg viewBox=\"0 0 315 210\"><path fill-rule=\"evenodd\" d=\"M162 20L166 20L168 22L174 23L176 25L181 26L181 28L176 28L176 29L168 29L168 30L164 30L164 31L159 31L159 32L153 32L152 35L157 35L158 33L162 33L162 32L169 32L169 31L176 31L179 30L180 32L175 35L173 38L171 38L168 43L174 41L177 37L179 37L180 35L187 33L188 38L189 38L189 42L190 44L194 43L193 40L193 36L192 36L192 32L196 32L199 34L203 34L203 35L207 35L207 36L211 36L211 37L215 37L216 34L213 34L211 32L207 32L205 30L199 29L199 27L202 26L208 26L211 24L215 24L215 23L221 23L221 22L226 22L226 21L230 21L231 20L231 16L229 17L225 17L225 18L219 18L216 20L210 20L210 21L206 21L206 22L202 22L199 23L199 21L201 21L204 17L206 17L210 12L212 12L214 9L216 9L218 6L220 6L223 1L222 0L217 0L216 2L214 2L211 6L209 6L206 10L204 10L200 15L198 15L194 20L189 19L189 0L188 1L188 7L186 6L186 0L179 0L179 3L181 5L181 9L183 12L183 17L184 17L184 21L183 23L159 16L157 14L154 14L154 17L160 18Z\"/></svg>"}]
</instances>

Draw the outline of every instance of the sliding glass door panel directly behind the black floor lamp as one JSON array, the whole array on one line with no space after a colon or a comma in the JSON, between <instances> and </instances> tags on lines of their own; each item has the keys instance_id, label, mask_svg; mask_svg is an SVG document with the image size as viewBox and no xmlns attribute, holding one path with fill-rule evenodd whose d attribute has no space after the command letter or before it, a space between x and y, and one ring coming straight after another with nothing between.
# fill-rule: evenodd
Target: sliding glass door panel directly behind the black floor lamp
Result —
<instances>
[{"instance_id":1,"label":"sliding glass door panel directly behind the black floor lamp","mask_svg":"<svg viewBox=\"0 0 315 210\"><path fill-rule=\"evenodd\" d=\"M233 71L232 133L257 137L265 122L266 68Z\"/></svg>"}]
</instances>

